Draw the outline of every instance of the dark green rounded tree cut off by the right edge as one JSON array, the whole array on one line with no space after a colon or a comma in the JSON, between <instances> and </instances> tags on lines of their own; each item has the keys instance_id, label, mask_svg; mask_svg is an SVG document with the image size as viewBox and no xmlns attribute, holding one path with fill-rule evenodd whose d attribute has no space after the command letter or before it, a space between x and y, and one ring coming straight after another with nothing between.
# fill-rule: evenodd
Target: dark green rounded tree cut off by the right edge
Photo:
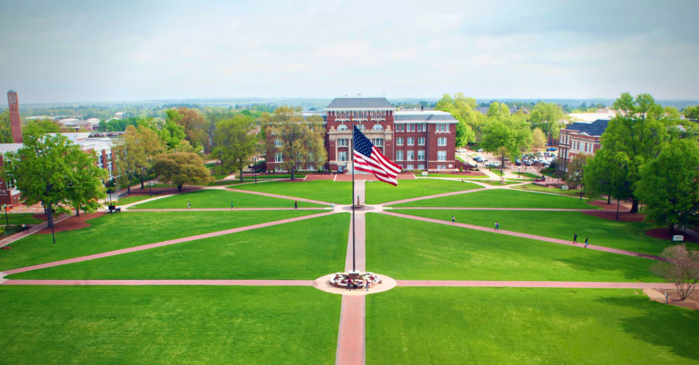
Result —
<instances>
[{"instance_id":1,"label":"dark green rounded tree cut off by the right edge","mask_svg":"<svg viewBox=\"0 0 699 365\"><path fill-rule=\"evenodd\" d=\"M645 220L664 223L672 234L699 211L699 147L694 140L674 140L658 158L640 168L635 191Z\"/></svg>"}]
</instances>

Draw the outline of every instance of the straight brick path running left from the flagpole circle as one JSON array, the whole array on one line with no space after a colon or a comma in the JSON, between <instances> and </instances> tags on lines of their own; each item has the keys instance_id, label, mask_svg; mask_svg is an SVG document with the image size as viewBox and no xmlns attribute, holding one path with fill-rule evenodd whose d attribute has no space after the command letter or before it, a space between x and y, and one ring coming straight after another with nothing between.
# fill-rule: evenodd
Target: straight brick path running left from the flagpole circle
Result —
<instances>
[{"instance_id":1,"label":"straight brick path running left from the flagpole circle","mask_svg":"<svg viewBox=\"0 0 699 365\"><path fill-rule=\"evenodd\" d=\"M34 280L10 279L3 285L294 285L312 286L312 280Z\"/></svg>"}]
</instances>

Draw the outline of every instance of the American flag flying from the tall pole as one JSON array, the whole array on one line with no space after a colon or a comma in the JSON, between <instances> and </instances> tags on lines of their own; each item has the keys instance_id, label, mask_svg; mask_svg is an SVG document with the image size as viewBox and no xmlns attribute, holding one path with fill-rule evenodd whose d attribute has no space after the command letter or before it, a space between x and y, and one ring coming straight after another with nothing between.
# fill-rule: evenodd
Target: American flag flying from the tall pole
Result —
<instances>
[{"instance_id":1,"label":"American flag flying from the tall pole","mask_svg":"<svg viewBox=\"0 0 699 365\"><path fill-rule=\"evenodd\" d=\"M371 172L377 179L398 186L396 177L398 172L401 172L401 166L382 155L356 126L354 126L354 168Z\"/></svg>"}]
</instances>

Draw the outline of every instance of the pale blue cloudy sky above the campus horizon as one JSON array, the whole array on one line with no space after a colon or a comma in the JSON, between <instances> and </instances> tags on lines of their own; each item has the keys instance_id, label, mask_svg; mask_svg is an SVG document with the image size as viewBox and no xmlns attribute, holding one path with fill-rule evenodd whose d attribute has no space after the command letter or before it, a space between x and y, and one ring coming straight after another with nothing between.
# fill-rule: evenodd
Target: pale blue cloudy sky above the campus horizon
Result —
<instances>
[{"instance_id":1,"label":"pale blue cloudy sky above the campus horizon","mask_svg":"<svg viewBox=\"0 0 699 365\"><path fill-rule=\"evenodd\" d=\"M6 1L20 103L699 99L699 1Z\"/></svg>"}]
</instances>

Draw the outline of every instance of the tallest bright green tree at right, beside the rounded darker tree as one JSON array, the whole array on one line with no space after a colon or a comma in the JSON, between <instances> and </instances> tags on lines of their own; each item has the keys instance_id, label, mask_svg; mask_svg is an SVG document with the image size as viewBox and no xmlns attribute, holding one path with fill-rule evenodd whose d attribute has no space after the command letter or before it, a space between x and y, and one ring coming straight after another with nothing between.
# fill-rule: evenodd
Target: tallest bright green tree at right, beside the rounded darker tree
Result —
<instances>
[{"instance_id":1,"label":"tallest bright green tree at right, beside the rounded darker tree","mask_svg":"<svg viewBox=\"0 0 699 365\"><path fill-rule=\"evenodd\" d=\"M603 163L613 169L616 176L617 195L614 198L623 199L625 196L633 200L631 213L638 211L638 198L635 195L636 182L640 180L640 167L660 154L665 142L670 140L670 131L679 120L675 114L668 114L663 107L655 103L649 94L640 94L633 98L628 93L621 94L614 102L616 117L610 120L607 129L602 134L602 149L607 150L600 157L606 158ZM597 157L596 157L597 158ZM630 189L630 192L619 193L619 188ZM628 195L627 195L628 194Z\"/></svg>"}]
</instances>

